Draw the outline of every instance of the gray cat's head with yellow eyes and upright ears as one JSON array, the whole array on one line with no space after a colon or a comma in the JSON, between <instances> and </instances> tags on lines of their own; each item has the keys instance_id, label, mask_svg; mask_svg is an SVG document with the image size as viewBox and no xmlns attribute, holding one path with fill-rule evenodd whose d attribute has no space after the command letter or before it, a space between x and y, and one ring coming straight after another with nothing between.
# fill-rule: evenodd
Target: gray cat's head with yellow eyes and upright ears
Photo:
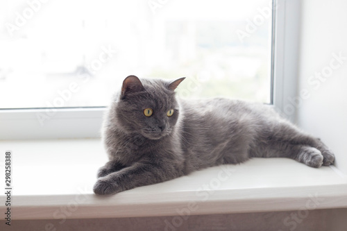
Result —
<instances>
[{"instance_id":1,"label":"gray cat's head with yellow eyes and upright ears","mask_svg":"<svg viewBox=\"0 0 347 231\"><path fill-rule=\"evenodd\" d=\"M126 77L115 107L121 128L125 132L137 132L148 139L169 135L180 114L174 90L184 79L167 82Z\"/></svg>"}]
</instances>

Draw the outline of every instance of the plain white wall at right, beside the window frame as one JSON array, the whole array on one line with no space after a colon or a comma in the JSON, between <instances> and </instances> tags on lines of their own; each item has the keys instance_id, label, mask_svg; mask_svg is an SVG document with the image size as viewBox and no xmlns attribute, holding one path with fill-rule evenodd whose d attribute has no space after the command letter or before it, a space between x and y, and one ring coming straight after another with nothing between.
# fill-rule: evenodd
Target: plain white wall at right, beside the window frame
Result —
<instances>
[{"instance_id":1,"label":"plain white wall at right, beside the window frame","mask_svg":"<svg viewBox=\"0 0 347 231\"><path fill-rule=\"evenodd\" d=\"M297 120L332 148L336 166L347 174L346 12L346 0L302 1L298 92L306 92L297 101ZM342 64L332 55L340 52L345 57ZM326 78L311 77L322 71Z\"/></svg>"}]
</instances>

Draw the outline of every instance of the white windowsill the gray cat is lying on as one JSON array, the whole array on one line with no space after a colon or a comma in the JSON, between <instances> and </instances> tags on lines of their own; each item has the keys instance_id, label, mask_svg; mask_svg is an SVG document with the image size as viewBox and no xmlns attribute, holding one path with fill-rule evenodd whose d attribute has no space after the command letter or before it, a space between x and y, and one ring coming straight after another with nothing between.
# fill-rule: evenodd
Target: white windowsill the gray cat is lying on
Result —
<instances>
[{"instance_id":1,"label":"white windowsill the gray cat is lying on","mask_svg":"<svg viewBox=\"0 0 347 231\"><path fill-rule=\"evenodd\" d=\"M347 177L333 166L313 169L289 159L255 158L224 166L232 169L230 176L216 166L103 197L92 193L96 170L107 161L100 139L2 141L0 146L2 152L13 153L11 209L12 219L17 220L347 207ZM201 191L203 185L217 188ZM3 194L0 198L5 201ZM0 207L6 209L4 203Z\"/></svg>"}]
</instances>

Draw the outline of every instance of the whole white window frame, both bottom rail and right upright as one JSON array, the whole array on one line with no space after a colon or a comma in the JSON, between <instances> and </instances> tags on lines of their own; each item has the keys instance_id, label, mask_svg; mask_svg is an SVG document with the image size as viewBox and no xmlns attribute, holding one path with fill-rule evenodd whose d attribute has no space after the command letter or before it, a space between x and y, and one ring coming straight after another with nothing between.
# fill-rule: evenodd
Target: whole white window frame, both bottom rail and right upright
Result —
<instances>
[{"instance_id":1,"label":"whole white window frame, both bottom rail and right upright","mask_svg":"<svg viewBox=\"0 0 347 231\"><path fill-rule=\"evenodd\" d=\"M296 96L298 73L299 0L274 0L271 48L271 107L290 121L296 108L289 107ZM289 113L289 108L293 109ZM37 115L54 110L43 123ZM37 108L0 110L0 140L95 138L101 136L105 107Z\"/></svg>"}]
</instances>

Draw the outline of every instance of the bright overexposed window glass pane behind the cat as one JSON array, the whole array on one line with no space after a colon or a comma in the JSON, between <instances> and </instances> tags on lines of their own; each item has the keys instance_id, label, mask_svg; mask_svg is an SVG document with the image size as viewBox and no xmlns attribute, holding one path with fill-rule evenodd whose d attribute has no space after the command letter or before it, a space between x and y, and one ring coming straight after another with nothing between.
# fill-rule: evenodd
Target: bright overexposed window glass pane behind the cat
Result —
<instances>
[{"instance_id":1,"label":"bright overexposed window glass pane behind the cat","mask_svg":"<svg viewBox=\"0 0 347 231\"><path fill-rule=\"evenodd\" d=\"M0 108L108 105L130 74L270 103L269 0L0 0Z\"/></svg>"}]
</instances>

